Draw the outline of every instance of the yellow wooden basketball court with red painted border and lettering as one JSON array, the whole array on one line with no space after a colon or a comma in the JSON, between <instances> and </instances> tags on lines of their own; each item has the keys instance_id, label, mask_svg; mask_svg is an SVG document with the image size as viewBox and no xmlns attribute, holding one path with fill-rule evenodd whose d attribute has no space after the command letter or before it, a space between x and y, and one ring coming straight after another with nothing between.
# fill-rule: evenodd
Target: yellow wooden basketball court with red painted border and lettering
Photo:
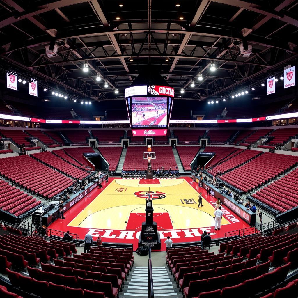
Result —
<instances>
[{"instance_id":1,"label":"yellow wooden basketball court with red painted border and lettering","mask_svg":"<svg viewBox=\"0 0 298 298\"><path fill-rule=\"evenodd\" d=\"M83 239L90 232L94 240L133 243L138 246L142 222L145 221L145 200L153 200L153 219L157 223L165 250L164 239L170 236L174 243L198 241L204 230L211 238L222 238L225 232L249 227L223 206L222 226L214 230L215 198L199 187L190 177L165 179L117 179L103 183L103 189L93 190L86 198L49 226L69 230ZM202 192L204 207L198 208L198 193Z\"/></svg>"}]
</instances>

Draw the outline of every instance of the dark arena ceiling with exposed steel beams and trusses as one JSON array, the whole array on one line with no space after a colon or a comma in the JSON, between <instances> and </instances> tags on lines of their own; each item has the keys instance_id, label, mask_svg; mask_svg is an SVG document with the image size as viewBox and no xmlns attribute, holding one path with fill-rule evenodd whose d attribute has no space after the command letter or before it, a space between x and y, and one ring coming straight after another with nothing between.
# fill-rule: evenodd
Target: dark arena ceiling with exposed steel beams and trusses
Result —
<instances>
[{"instance_id":1,"label":"dark arena ceiling with exposed steel beams and trusses","mask_svg":"<svg viewBox=\"0 0 298 298\"><path fill-rule=\"evenodd\" d=\"M176 94L207 100L296 62L297 4L298 0L0 0L0 63L93 100L123 98L124 88L151 64ZM252 46L249 58L240 56L243 40ZM53 58L45 55L50 42L59 46ZM89 72L82 71L84 61ZM212 62L215 72L209 70ZM97 73L100 82L95 80ZM199 74L202 81L197 80ZM193 81L195 87L190 86Z\"/></svg>"}]
</instances>

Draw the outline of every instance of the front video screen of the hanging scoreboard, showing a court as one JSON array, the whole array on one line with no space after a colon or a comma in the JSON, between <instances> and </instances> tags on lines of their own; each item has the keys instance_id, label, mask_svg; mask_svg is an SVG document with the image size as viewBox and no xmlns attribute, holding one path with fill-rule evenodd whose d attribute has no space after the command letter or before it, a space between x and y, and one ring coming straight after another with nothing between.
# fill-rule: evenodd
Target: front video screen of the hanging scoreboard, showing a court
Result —
<instances>
[{"instance_id":1,"label":"front video screen of the hanging scoreboard, showing a court","mask_svg":"<svg viewBox=\"0 0 298 298\"><path fill-rule=\"evenodd\" d=\"M167 127L167 97L131 97L132 128Z\"/></svg>"}]
</instances>

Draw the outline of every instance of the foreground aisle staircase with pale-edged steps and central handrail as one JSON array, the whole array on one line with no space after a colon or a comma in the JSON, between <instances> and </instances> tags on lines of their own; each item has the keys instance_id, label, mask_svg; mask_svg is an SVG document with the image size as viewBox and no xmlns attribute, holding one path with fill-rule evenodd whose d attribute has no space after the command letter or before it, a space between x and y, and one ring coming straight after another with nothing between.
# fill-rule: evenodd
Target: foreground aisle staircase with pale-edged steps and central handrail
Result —
<instances>
[{"instance_id":1,"label":"foreground aisle staircase with pale-edged steps and central handrail","mask_svg":"<svg viewBox=\"0 0 298 298\"><path fill-rule=\"evenodd\" d=\"M154 297L181 298L179 288L167 267L152 267ZM148 297L148 267L134 267L119 298Z\"/></svg>"}]
</instances>

